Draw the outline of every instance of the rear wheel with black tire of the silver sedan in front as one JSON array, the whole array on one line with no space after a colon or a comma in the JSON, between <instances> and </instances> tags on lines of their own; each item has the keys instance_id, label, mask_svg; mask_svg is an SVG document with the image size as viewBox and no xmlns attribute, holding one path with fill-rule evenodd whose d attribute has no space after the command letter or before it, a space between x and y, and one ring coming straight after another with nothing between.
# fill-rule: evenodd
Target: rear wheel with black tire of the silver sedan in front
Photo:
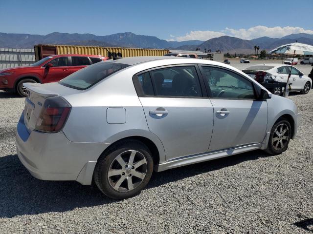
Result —
<instances>
[{"instance_id":1,"label":"rear wheel with black tire of the silver sedan in front","mask_svg":"<svg viewBox=\"0 0 313 234\"><path fill-rule=\"evenodd\" d=\"M103 194L113 199L126 199L146 187L152 172L149 148L138 140L123 140L99 157L93 179Z\"/></svg>"}]
</instances>

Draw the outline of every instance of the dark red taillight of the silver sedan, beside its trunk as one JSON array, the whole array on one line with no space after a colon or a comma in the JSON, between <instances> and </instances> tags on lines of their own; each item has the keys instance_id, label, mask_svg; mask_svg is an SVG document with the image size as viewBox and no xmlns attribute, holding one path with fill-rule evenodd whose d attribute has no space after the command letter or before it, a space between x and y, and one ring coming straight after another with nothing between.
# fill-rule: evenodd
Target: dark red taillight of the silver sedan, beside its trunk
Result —
<instances>
[{"instance_id":1,"label":"dark red taillight of the silver sedan, beside its trunk","mask_svg":"<svg viewBox=\"0 0 313 234\"><path fill-rule=\"evenodd\" d=\"M46 133L59 132L69 115L71 106L61 97L46 98L35 129Z\"/></svg>"}]
</instances>

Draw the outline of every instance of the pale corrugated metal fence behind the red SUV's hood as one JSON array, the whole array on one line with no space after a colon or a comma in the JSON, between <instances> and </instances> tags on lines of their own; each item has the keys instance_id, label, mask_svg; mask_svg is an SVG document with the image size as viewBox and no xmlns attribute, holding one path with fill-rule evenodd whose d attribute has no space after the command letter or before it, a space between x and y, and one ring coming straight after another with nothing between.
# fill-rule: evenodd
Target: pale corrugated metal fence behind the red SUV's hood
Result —
<instances>
[{"instance_id":1,"label":"pale corrugated metal fence behind the red SUV's hood","mask_svg":"<svg viewBox=\"0 0 313 234\"><path fill-rule=\"evenodd\" d=\"M0 48L0 70L29 66L35 62L34 49Z\"/></svg>"}]
</instances>

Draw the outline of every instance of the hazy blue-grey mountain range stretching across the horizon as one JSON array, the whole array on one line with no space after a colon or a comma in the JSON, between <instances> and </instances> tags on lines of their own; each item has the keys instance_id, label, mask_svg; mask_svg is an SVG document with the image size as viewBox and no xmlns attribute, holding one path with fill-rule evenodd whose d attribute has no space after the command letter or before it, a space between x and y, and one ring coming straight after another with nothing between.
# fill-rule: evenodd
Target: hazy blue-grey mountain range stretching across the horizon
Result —
<instances>
[{"instance_id":1,"label":"hazy blue-grey mountain range stretching across the horizon","mask_svg":"<svg viewBox=\"0 0 313 234\"><path fill-rule=\"evenodd\" d=\"M203 52L220 50L230 54L246 54L254 53L255 45L258 45L260 50L270 50L282 44L295 42L295 40L313 45L313 35L305 33L291 34L282 38L261 37L251 40L222 36L206 41L167 41L153 36L136 35L132 32L116 33L108 36L54 32L47 35L0 33L0 48L33 48L36 44L67 44L156 49L168 48L176 50L196 50L199 48Z\"/></svg>"}]
</instances>

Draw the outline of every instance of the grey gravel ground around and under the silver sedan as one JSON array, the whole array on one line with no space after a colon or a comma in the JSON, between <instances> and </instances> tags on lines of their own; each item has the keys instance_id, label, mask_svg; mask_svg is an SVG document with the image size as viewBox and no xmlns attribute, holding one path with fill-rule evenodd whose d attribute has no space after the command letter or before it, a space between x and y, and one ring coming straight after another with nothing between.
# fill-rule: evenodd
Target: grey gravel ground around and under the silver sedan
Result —
<instances>
[{"instance_id":1,"label":"grey gravel ground around and under the silver sedan","mask_svg":"<svg viewBox=\"0 0 313 234\"><path fill-rule=\"evenodd\" d=\"M133 198L33 178L15 149L23 98L0 92L0 233L313 233L313 92L287 152L254 151L155 173Z\"/></svg>"}]
</instances>

